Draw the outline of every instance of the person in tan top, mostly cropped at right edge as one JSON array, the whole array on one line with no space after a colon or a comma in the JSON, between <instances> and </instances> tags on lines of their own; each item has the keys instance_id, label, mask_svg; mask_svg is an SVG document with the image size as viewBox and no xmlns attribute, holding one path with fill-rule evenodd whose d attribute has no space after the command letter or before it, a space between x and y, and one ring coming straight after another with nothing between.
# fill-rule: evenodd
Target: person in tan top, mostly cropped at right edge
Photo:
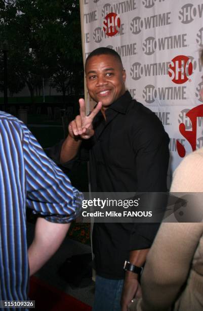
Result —
<instances>
[{"instance_id":1,"label":"person in tan top, mostly cropped at right edge","mask_svg":"<svg viewBox=\"0 0 203 311\"><path fill-rule=\"evenodd\" d=\"M200 95L203 100L203 89ZM203 147L181 162L170 191L203 193ZM147 256L141 288L142 298L134 300L130 311L203 310L202 220L161 224Z\"/></svg>"}]
</instances>

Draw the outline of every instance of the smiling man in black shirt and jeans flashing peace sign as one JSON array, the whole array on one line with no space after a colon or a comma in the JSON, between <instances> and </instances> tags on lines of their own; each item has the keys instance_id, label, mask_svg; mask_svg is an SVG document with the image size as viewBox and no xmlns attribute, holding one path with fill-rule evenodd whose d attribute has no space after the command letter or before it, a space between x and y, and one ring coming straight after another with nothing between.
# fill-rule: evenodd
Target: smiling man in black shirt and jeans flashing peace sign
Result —
<instances>
[{"instance_id":1,"label":"smiling man in black shirt and jeans flashing peace sign","mask_svg":"<svg viewBox=\"0 0 203 311\"><path fill-rule=\"evenodd\" d=\"M98 48L86 60L87 87L98 103L89 116L70 122L61 163L90 160L93 192L166 192L169 137L156 115L126 91L120 56ZM93 252L97 272L94 311L127 311L140 292L138 273L158 224L95 223ZM124 262L130 270L124 272Z\"/></svg>"}]
</instances>

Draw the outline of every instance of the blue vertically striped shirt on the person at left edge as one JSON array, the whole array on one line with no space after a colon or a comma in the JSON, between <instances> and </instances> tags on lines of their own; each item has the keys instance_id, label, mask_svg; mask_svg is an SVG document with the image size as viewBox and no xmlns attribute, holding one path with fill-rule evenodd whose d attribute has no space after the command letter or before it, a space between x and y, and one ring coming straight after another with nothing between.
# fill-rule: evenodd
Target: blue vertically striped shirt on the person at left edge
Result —
<instances>
[{"instance_id":1,"label":"blue vertically striped shirt on the person at left edge","mask_svg":"<svg viewBox=\"0 0 203 311\"><path fill-rule=\"evenodd\" d=\"M68 223L83 197L26 126L1 111L0 185L0 300L26 300L26 206L48 221Z\"/></svg>"}]
</instances>

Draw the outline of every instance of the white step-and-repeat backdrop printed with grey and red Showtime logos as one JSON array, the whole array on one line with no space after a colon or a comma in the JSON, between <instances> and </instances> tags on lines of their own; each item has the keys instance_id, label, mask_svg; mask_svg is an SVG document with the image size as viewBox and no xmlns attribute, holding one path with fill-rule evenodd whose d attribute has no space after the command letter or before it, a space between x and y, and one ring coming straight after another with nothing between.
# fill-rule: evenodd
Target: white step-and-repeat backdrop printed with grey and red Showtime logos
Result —
<instances>
[{"instance_id":1,"label":"white step-and-repeat backdrop printed with grey and red Showtime logos","mask_svg":"<svg viewBox=\"0 0 203 311\"><path fill-rule=\"evenodd\" d=\"M80 0L80 15L84 60L101 46L118 52L132 97L158 115L170 136L173 171L203 145L202 1Z\"/></svg>"}]
</instances>

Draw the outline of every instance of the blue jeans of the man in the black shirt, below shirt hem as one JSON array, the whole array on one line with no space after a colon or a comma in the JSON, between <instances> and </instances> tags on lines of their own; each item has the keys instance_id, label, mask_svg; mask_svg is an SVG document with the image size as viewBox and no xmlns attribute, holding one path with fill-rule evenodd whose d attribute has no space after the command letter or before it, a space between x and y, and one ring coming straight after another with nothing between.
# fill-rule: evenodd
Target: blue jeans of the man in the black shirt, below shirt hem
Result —
<instances>
[{"instance_id":1,"label":"blue jeans of the man in the black shirt, below shirt hem","mask_svg":"<svg viewBox=\"0 0 203 311\"><path fill-rule=\"evenodd\" d=\"M92 311L121 311L120 299L123 285L123 279L109 279L96 276Z\"/></svg>"}]
</instances>

